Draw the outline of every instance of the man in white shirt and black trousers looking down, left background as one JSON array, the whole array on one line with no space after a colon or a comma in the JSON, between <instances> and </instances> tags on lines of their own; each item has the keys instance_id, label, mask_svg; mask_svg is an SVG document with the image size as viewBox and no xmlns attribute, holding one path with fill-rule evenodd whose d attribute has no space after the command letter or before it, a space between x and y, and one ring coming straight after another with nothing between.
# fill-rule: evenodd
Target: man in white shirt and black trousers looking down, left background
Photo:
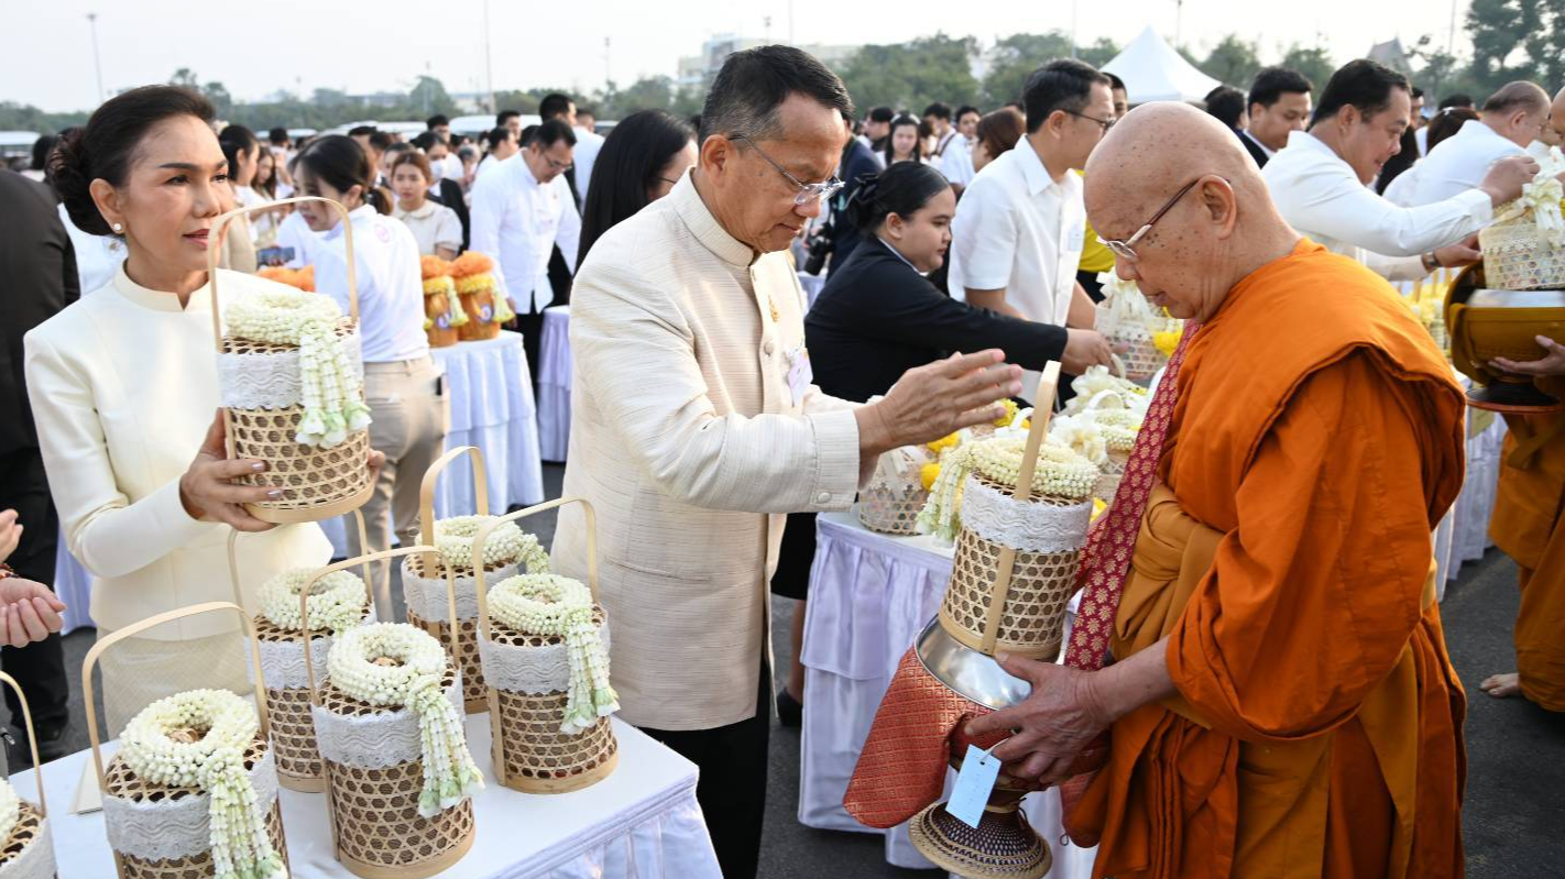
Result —
<instances>
[{"instance_id":1,"label":"man in white shirt and black trousers looking down, left background","mask_svg":"<svg viewBox=\"0 0 1565 879\"><path fill-rule=\"evenodd\" d=\"M549 286L549 250L559 244L565 264L576 271L582 217L565 183L574 147L571 127L549 119L515 161L496 166L473 185L471 247L495 257L495 280L513 303L534 377L543 310L556 296L570 296L568 289Z\"/></svg>"}]
</instances>

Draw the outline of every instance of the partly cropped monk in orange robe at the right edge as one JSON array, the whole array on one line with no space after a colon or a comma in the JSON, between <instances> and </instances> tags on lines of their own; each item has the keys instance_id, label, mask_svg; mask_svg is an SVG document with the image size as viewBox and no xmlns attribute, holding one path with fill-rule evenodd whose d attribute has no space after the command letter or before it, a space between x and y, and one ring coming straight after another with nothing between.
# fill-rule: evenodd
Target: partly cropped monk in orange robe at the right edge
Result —
<instances>
[{"instance_id":1,"label":"partly cropped monk in orange robe at the right edge","mask_svg":"<svg viewBox=\"0 0 1565 879\"><path fill-rule=\"evenodd\" d=\"M1565 99L1565 91L1560 92ZM1507 372L1537 375L1554 397L1565 397L1565 346L1546 336L1543 360L1499 358ZM1565 712L1565 414L1509 416L1499 490L1488 536L1516 561L1521 607L1516 610L1516 671L1495 674L1479 687L1495 698L1523 694L1551 712ZM1526 424L1518 424L1524 421ZM1526 466L1512 465L1518 433L1552 435Z\"/></svg>"}]
</instances>

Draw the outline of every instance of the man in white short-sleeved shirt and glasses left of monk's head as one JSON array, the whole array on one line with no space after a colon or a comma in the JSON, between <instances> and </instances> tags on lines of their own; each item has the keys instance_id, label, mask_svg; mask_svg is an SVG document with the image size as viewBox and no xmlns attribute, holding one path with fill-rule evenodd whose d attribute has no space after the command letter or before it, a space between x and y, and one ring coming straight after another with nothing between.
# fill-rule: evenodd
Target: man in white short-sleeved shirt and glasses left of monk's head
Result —
<instances>
[{"instance_id":1,"label":"man in white short-sleeved shirt and glasses left of monk's head","mask_svg":"<svg viewBox=\"0 0 1565 879\"><path fill-rule=\"evenodd\" d=\"M1081 374L1110 361L1092 300L1075 280L1086 208L1083 167L1114 124L1108 77L1075 59L1050 61L1027 80L1027 136L986 164L952 221L952 294L969 305L1069 328L1063 366ZM1038 375L1024 379L1031 399Z\"/></svg>"}]
</instances>

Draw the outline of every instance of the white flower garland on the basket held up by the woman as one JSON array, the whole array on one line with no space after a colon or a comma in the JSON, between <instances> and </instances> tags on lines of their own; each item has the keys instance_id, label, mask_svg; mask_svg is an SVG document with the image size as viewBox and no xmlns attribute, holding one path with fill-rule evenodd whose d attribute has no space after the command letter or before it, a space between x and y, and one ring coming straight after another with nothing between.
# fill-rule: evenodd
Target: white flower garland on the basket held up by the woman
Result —
<instances>
[{"instance_id":1,"label":"white flower garland on the basket held up by the woman","mask_svg":"<svg viewBox=\"0 0 1565 879\"><path fill-rule=\"evenodd\" d=\"M269 289L236 299L227 308L228 332L266 344L299 346L304 418L296 443L330 449L369 425L358 374L336 324L343 310L329 296Z\"/></svg>"}]
</instances>

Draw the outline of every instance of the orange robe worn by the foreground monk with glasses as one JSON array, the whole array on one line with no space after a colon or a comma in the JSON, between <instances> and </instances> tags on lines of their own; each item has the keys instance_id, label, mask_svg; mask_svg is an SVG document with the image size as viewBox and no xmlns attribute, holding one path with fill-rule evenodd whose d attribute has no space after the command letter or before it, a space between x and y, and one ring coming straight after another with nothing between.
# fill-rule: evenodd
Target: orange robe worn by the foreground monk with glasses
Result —
<instances>
[{"instance_id":1,"label":"orange robe worn by the foreground monk with glasses","mask_svg":"<svg viewBox=\"0 0 1565 879\"><path fill-rule=\"evenodd\" d=\"M1462 874L1430 530L1463 399L1394 296L1301 241L1191 343L1113 640L1167 637L1178 696L1114 724L1070 815L1096 876Z\"/></svg>"}]
</instances>

